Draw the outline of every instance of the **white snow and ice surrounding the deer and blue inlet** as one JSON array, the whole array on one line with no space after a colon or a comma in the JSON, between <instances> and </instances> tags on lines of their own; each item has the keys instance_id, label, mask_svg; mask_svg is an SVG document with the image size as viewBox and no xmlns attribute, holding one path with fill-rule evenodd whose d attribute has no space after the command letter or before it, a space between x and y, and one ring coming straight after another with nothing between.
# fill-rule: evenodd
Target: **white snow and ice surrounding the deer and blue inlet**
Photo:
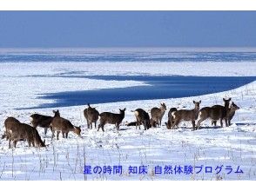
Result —
<instances>
[{"instance_id":1,"label":"white snow and ice surrounding the deer and blue inlet","mask_svg":"<svg viewBox=\"0 0 256 191\"><path fill-rule=\"evenodd\" d=\"M102 64L102 65L101 65ZM234 67L235 66L235 67ZM45 100L38 94L62 90L103 89L131 87L144 82L91 80L86 78L63 78L69 74L82 75L181 75L181 76L256 76L255 63L1 63L0 124L7 116L30 122L35 112L53 115L52 109L25 109ZM47 77L45 77L47 76ZM212 128L209 121L202 129L192 131L190 122L181 128L168 130L151 128L144 131L125 126L135 120L131 109L149 111L165 102L167 112L172 107L193 108L193 100L202 100L201 107L223 104L223 97L232 97L240 109L228 128ZM54 102L54 101L52 101ZM44 136L46 148L28 148L26 142L18 142L17 148L9 149L8 142L0 141L0 180L256 180L256 82L238 89L178 99L114 102L95 105L99 112L126 108L125 120L118 132L113 125L106 125L105 132L88 129L83 110L86 106L59 108L60 114L74 125L82 125L82 138L70 134L69 139L51 141L51 132ZM84 175L84 164L97 166L122 166L122 175ZM147 167L147 174L129 174L129 166ZM192 166L193 174L165 175L165 166ZM215 168L222 166L217 175ZM232 172L228 175L229 166ZM243 174L234 171L238 166ZM162 167L162 175L154 172ZM199 174L199 167L203 167ZM205 167L212 173L205 173ZM196 170L196 171L194 171ZM184 168L182 168L184 171Z\"/></svg>"}]
</instances>

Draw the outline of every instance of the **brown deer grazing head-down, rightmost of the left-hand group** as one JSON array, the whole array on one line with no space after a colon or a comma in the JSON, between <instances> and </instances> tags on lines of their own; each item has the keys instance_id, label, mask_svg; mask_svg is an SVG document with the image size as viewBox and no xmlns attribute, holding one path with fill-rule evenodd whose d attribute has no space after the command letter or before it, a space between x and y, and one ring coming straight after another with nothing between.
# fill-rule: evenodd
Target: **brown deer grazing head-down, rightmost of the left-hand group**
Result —
<instances>
[{"instance_id":1,"label":"brown deer grazing head-down, rightmost of the left-hand group","mask_svg":"<svg viewBox=\"0 0 256 191\"><path fill-rule=\"evenodd\" d=\"M55 131L57 131L57 140L58 140L58 136L60 134L60 132L62 133L63 138L68 138L68 134L69 132L73 132L74 134L78 135L79 137L81 137L81 128L80 127L76 127L74 125L72 125L72 123L67 120L64 119L63 117L61 117L59 115L59 111L55 111L53 110L54 116L51 120L51 131L52 131L52 136L51 136L51 140L54 137L54 133Z\"/></svg>"}]
</instances>

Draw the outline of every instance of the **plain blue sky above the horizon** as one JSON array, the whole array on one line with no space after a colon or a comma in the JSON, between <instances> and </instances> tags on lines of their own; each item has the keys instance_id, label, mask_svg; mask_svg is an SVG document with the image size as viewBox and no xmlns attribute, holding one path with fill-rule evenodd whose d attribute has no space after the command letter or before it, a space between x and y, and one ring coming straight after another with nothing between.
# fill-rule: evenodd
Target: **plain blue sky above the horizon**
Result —
<instances>
[{"instance_id":1,"label":"plain blue sky above the horizon","mask_svg":"<svg viewBox=\"0 0 256 191\"><path fill-rule=\"evenodd\" d=\"M0 11L1 48L256 47L256 11Z\"/></svg>"}]
</instances>

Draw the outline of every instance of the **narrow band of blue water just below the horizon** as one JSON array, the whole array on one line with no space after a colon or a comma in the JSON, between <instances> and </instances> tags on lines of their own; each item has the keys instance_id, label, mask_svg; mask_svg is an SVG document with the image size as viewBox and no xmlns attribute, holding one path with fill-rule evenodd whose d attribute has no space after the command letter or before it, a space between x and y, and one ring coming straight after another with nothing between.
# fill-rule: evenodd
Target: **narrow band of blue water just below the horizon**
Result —
<instances>
[{"instance_id":1,"label":"narrow band of blue water just below the horizon","mask_svg":"<svg viewBox=\"0 0 256 191\"><path fill-rule=\"evenodd\" d=\"M22 62L254 62L256 51L173 51L172 49L32 49L0 51L0 63Z\"/></svg>"}]
</instances>

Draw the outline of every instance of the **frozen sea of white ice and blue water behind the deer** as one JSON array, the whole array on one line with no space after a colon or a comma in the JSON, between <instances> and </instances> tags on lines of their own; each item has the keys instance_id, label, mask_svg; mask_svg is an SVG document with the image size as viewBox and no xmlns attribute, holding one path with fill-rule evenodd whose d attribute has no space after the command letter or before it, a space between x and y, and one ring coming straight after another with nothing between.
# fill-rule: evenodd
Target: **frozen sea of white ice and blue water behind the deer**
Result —
<instances>
[{"instance_id":1,"label":"frozen sea of white ice and blue water behind the deer","mask_svg":"<svg viewBox=\"0 0 256 191\"><path fill-rule=\"evenodd\" d=\"M15 109L221 92L253 82L255 61L253 49L0 50L1 76L16 78L9 82L17 89L32 82L30 94L39 102Z\"/></svg>"}]
</instances>

